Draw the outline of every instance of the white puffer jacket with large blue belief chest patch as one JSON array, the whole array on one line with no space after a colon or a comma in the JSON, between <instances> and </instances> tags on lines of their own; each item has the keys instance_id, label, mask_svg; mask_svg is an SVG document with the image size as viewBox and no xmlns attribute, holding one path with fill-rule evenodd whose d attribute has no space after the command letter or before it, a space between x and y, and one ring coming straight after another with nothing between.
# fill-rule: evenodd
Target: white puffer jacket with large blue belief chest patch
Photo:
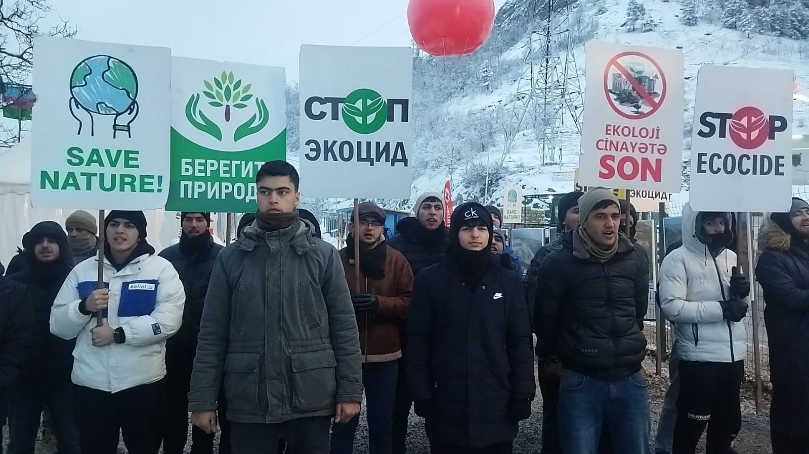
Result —
<instances>
[{"instance_id":1,"label":"white puffer jacket with large blue belief chest patch","mask_svg":"<svg viewBox=\"0 0 809 454\"><path fill-rule=\"evenodd\" d=\"M125 342L93 347L90 330L95 317L79 312L78 304L98 287L98 259L74 267L62 285L50 315L51 333L76 338L73 382L116 393L148 385L166 375L166 339L180 329L185 292L172 264L143 254L121 271L104 260L109 285L108 318L121 326Z\"/></svg>"}]
</instances>

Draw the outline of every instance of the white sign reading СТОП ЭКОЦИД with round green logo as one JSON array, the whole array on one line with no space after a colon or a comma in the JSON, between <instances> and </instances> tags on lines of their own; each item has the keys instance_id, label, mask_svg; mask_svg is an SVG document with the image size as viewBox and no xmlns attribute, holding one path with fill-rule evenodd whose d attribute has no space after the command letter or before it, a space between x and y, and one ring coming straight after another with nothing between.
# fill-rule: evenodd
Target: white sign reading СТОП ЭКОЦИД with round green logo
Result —
<instances>
[{"instance_id":1,"label":"white sign reading \u0421\u0422\u041e\u041f \u042d\u041a\u041e\u0426\u0418\u0414 with round green logo","mask_svg":"<svg viewBox=\"0 0 809 454\"><path fill-rule=\"evenodd\" d=\"M304 196L410 197L410 48L301 46Z\"/></svg>"}]
</instances>

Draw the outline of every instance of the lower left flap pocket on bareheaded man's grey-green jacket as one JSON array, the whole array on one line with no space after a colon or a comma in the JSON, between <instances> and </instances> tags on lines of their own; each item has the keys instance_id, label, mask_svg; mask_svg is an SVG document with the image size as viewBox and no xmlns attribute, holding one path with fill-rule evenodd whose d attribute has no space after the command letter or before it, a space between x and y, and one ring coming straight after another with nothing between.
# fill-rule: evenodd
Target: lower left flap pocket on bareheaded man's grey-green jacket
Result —
<instances>
[{"instance_id":1,"label":"lower left flap pocket on bareheaded man's grey-green jacket","mask_svg":"<svg viewBox=\"0 0 809 454\"><path fill-rule=\"evenodd\" d=\"M228 353L225 356L225 397L234 413L258 414L258 353Z\"/></svg>"}]
</instances>

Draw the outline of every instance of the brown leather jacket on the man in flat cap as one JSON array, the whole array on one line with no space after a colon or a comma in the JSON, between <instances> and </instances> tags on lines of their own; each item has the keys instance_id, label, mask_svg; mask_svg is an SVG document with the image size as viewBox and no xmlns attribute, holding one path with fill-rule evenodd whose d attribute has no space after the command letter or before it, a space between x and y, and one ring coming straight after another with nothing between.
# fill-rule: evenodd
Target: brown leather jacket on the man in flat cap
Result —
<instances>
[{"instance_id":1,"label":"brown leather jacket on the man in flat cap","mask_svg":"<svg viewBox=\"0 0 809 454\"><path fill-rule=\"evenodd\" d=\"M407 317L410 293L413 291L413 271L398 250L390 246L385 259L385 277L373 280L360 271L360 288L356 288L354 264L349 263L345 248L340 259L345 269L345 280L351 293L371 293L379 297L376 313L358 313L359 346L365 363L388 363L401 358L399 326Z\"/></svg>"}]
</instances>

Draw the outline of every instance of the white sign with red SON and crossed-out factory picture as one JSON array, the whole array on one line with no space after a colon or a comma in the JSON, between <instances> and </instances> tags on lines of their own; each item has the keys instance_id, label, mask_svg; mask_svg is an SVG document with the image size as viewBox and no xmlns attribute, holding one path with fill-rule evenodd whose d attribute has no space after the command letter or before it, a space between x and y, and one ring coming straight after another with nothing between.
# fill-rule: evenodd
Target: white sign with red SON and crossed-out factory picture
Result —
<instances>
[{"instance_id":1,"label":"white sign with red SON and crossed-out factory picture","mask_svg":"<svg viewBox=\"0 0 809 454\"><path fill-rule=\"evenodd\" d=\"M683 53L590 40L585 55L582 184L680 192Z\"/></svg>"}]
</instances>

